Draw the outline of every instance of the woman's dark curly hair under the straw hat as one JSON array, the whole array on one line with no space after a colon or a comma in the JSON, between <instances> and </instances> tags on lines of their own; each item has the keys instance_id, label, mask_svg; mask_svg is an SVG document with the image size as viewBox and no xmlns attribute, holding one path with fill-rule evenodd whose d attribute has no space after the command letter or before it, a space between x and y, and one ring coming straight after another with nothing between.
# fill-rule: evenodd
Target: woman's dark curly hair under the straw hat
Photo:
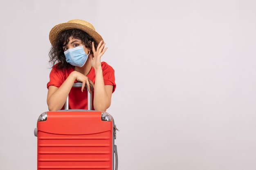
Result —
<instances>
[{"instance_id":1,"label":"woman's dark curly hair under the straw hat","mask_svg":"<svg viewBox=\"0 0 256 170\"><path fill-rule=\"evenodd\" d=\"M80 39L85 45L86 48L92 49L92 41L94 42L95 49L97 48L98 44L94 41L94 39L88 35L88 33L85 33L82 30L79 29L69 29L64 30L61 33L59 33L52 45L52 48L49 52L49 63L51 65L51 68L56 64L56 68L59 70L64 70L66 68L74 68L73 65L70 63L67 63L66 57L64 55L63 45L68 44L69 37L72 36L76 39ZM91 51L93 54L93 52ZM55 66L54 66L55 67Z\"/></svg>"}]
</instances>

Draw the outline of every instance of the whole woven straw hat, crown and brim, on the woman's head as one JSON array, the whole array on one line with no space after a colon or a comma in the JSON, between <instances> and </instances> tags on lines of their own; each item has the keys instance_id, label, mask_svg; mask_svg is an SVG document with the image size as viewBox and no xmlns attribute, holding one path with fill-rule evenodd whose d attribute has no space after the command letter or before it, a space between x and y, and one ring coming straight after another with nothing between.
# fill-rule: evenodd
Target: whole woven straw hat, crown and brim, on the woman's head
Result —
<instances>
[{"instance_id":1,"label":"whole woven straw hat, crown and brim, on the woman's head","mask_svg":"<svg viewBox=\"0 0 256 170\"><path fill-rule=\"evenodd\" d=\"M89 22L86 22L84 20L70 20L68 22L58 24L51 29L49 33L49 39L51 44L53 45L53 42L55 41L58 33L61 33L61 31L68 29L79 29L85 31L97 42L97 44L99 44L99 42L103 40L101 35L99 35L95 31L95 28Z\"/></svg>"}]
</instances>

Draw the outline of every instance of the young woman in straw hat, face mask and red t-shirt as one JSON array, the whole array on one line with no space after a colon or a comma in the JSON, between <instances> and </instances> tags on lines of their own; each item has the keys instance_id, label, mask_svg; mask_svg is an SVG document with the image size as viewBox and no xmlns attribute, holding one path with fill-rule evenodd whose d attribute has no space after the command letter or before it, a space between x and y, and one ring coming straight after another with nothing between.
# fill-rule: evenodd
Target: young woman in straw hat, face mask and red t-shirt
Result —
<instances>
[{"instance_id":1,"label":"young woman in straw hat, face mask and red t-shirt","mask_svg":"<svg viewBox=\"0 0 256 170\"><path fill-rule=\"evenodd\" d=\"M92 93L92 109L106 111L116 87L115 71L101 62L107 48L92 24L83 20L58 24L50 31L49 39L49 62L53 65L47 83L49 111L63 109L67 96L69 109L88 109L85 83ZM74 82L82 82L83 87L72 88Z\"/></svg>"}]
</instances>

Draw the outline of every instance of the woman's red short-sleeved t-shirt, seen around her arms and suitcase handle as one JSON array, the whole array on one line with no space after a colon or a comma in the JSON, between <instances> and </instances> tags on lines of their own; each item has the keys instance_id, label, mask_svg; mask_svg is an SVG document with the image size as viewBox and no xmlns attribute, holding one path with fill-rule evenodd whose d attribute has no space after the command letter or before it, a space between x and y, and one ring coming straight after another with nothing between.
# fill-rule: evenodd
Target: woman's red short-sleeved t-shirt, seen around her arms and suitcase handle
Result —
<instances>
[{"instance_id":1,"label":"woman's red short-sleeved t-shirt, seen around her arms and suitcase handle","mask_svg":"<svg viewBox=\"0 0 256 170\"><path fill-rule=\"evenodd\" d=\"M50 81L47 83L47 89L49 88L50 85L54 85L59 88L62 85L62 83L66 80L66 78L70 75L70 73L74 71L74 68L69 68L69 69L65 69L63 72L61 70L57 70L56 67L54 66L49 75ZM104 61L101 62L101 68L102 68L104 84L112 85L113 86L112 93L115 92L115 88L116 88L115 70ZM95 70L93 67L91 68L87 76L93 83L95 83ZM94 99L94 92L92 92L92 101L93 99ZM87 90L83 90L83 92L81 92L81 88L76 88L76 87L70 90L69 109L88 109ZM94 110L93 102L92 102L92 109Z\"/></svg>"}]
</instances>

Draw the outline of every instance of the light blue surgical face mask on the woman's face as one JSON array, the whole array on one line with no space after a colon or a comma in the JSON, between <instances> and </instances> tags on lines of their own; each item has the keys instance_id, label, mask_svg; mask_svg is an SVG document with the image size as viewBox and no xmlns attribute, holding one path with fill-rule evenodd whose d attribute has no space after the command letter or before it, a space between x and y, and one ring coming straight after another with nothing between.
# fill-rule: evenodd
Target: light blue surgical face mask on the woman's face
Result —
<instances>
[{"instance_id":1,"label":"light blue surgical face mask on the woman's face","mask_svg":"<svg viewBox=\"0 0 256 170\"><path fill-rule=\"evenodd\" d=\"M71 65L74 65L74 66L83 67L86 60L88 59L90 52L87 55L83 50L83 46L78 46L78 47L71 48L64 51L64 54L65 54L67 63L70 63Z\"/></svg>"}]
</instances>

